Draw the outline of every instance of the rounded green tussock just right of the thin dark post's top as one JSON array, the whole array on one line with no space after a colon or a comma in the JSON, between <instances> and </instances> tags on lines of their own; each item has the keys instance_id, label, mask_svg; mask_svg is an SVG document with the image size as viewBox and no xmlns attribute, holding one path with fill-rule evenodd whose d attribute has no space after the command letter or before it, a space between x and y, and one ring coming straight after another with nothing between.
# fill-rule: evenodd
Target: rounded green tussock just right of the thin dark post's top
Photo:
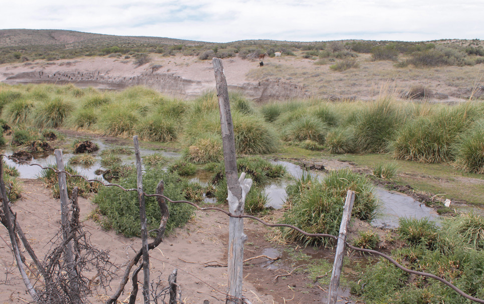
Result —
<instances>
[{"instance_id":1,"label":"rounded green tussock just right of the thin dark post's top","mask_svg":"<svg viewBox=\"0 0 484 304\"><path fill-rule=\"evenodd\" d=\"M167 142L177 138L177 124L169 116L151 115L143 118L135 129L144 140Z\"/></svg>"}]
</instances>

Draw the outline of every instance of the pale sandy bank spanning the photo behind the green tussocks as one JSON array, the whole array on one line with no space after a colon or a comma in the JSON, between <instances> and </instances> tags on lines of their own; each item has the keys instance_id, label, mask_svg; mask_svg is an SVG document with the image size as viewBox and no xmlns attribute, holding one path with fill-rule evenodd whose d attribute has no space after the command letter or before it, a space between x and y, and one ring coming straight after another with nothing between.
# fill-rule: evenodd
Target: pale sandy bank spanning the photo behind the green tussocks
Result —
<instances>
[{"instance_id":1,"label":"pale sandy bank spanning the photo behind the green tussocks","mask_svg":"<svg viewBox=\"0 0 484 304\"><path fill-rule=\"evenodd\" d=\"M146 82L145 79L137 79L135 84L144 83L165 94L187 98L200 95L207 89L215 89L211 60L199 60L196 56L182 55L163 57L152 54L151 57L151 62L141 66L134 65L132 58L123 59L123 57L84 57L3 64L0 65L0 82L15 84L41 81L29 79L29 77L12 77L25 72L43 72L45 75L50 75L48 80L50 82L60 79L61 83L72 82L79 86L120 88L120 79L154 74L163 76L163 80L156 78L154 82L164 81L165 83L154 84ZM242 59L238 56L225 58L222 62L227 83L231 89L240 89L256 100L262 100L259 97L267 89L282 90L283 93L277 95L277 98L283 99L304 95L331 100L367 100L377 98L381 94L391 94L400 98L403 93L415 86L424 86L430 92L429 100L434 102L462 101L470 96L473 89L474 97L484 95L482 71L478 65L397 68L391 61L371 61L367 54L360 54L357 60L360 64L359 68L343 72L330 69L330 65L336 62L334 60L315 64L315 59L303 58L301 55L267 57L263 67L259 66L259 60ZM153 69L153 66L156 68ZM104 82L97 77L92 81L86 81L85 77L84 80L80 80L82 77L63 80L62 77L57 76L83 72L100 75ZM179 83L180 80L182 84ZM173 83L168 83L170 81ZM261 81L271 81L271 87L260 89ZM282 87L280 81L296 85L301 92L292 94L291 86ZM125 81L125 84L133 85L133 82ZM271 94L268 98L274 96Z\"/></svg>"}]
</instances>

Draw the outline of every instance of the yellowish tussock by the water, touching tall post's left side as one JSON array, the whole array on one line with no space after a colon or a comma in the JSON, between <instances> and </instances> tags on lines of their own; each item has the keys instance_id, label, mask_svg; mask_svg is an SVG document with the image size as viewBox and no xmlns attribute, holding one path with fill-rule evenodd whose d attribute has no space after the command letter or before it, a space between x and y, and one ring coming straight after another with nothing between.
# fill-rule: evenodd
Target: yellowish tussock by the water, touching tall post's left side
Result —
<instances>
[{"instance_id":1,"label":"yellowish tussock by the water, touching tall post's left side","mask_svg":"<svg viewBox=\"0 0 484 304\"><path fill-rule=\"evenodd\" d=\"M200 135L185 150L183 157L194 163L219 162L223 158L222 138L218 134Z\"/></svg>"}]
</instances>

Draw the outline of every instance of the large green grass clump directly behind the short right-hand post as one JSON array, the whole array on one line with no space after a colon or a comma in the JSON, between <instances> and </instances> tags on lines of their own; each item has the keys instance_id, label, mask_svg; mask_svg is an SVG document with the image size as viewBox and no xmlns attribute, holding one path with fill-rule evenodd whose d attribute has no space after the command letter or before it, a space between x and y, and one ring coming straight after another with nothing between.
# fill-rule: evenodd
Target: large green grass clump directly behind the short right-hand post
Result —
<instances>
[{"instance_id":1,"label":"large green grass clump directly behind the short right-hand post","mask_svg":"<svg viewBox=\"0 0 484 304\"><path fill-rule=\"evenodd\" d=\"M356 192L352 215L371 220L375 217L378 201L373 194L373 185L362 175L349 169L332 171L322 181L310 175L303 175L295 185L286 189L287 210L283 223L295 225L310 233L337 235L348 190ZM315 239L301 235L293 229L283 228L287 240L328 243L328 240Z\"/></svg>"}]
</instances>

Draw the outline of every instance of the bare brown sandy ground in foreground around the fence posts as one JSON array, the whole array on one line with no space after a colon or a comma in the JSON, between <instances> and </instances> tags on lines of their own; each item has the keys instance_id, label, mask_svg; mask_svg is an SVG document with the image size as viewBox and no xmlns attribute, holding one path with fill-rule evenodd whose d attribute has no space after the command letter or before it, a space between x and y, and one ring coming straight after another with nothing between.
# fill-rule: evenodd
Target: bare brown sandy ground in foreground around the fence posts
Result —
<instances>
[{"instance_id":1,"label":"bare brown sandy ground in foreground around the fence posts","mask_svg":"<svg viewBox=\"0 0 484 304\"><path fill-rule=\"evenodd\" d=\"M49 240L59 227L60 202L52 198L49 189L44 188L38 180L24 180L24 193L13 209L26 232L32 246L39 256L43 256L50 248ZM91 241L96 246L110 250L110 259L118 265L123 264L134 255L133 248L139 248L141 241L137 237L127 238L114 231L105 231L87 215L93 208L88 199L79 199L81 219L84 229L91 234ZM244 267L244 293L252 303L293 303L322 302L326 292L317 283L307 278L308 273L294 273L286 278L274 278L278 274L288 273L294 269L287 255L285 246L270 243L266 240L269 229L252 222L245 221L246 233L249 239L246 243L245 257L265 254L271 257L282 256L275 263L265 258L256 259ZM197 211L196 216L184 227L164 238L164 241L150 253L151 278L160 276L166 283L168 275L176 267L177 282L182 291L184 303L201 304L208 299L210 303L224 303L226 291L226 267L206 267L204 263L217 261L225 263L228 239L228 219L223 213L214 211ZM15 265L10 251L10 239L7 229L0 226L0 303L25 303L30 300L26 294L19 270ZM314 249L311 249L314 250ZM324 256L331 256L331 251L321 251ZM121 267L118 275L124 271ZM119 277L113 280L108 289L97 286L92 288L94 303L106 300L117 287ZM130 282L120 300L129 297ZM327 286L321 286L326 290ZM348 295L347 290L340 290ZM138 294L141 297L141 293ZM346 301L346 297L345 297ZM347 302L351 303L351 301Z\"/></svg>"}]
</instances>

